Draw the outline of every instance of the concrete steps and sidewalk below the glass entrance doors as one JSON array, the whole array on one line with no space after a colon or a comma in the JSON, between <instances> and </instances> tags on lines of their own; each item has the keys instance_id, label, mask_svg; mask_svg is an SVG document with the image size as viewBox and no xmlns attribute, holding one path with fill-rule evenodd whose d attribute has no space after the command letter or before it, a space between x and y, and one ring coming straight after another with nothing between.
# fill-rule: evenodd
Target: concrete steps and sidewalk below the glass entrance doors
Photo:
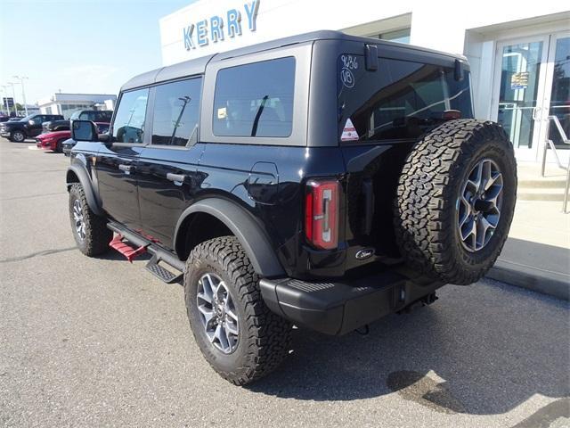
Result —
<instances>
[{"instance_id":1,"label":"concrete steps and sidewalk below the glass entrance doors","mask_svg":"<svg viewBox=\"0 0 570 428\"><path fill-rule=\"evenodd\" d=\"M515 218L487 276L570 300L570 214L561 202L566 171L549 165L545 175L535 164L518 166Z\"/></svg>"}]
</instances>

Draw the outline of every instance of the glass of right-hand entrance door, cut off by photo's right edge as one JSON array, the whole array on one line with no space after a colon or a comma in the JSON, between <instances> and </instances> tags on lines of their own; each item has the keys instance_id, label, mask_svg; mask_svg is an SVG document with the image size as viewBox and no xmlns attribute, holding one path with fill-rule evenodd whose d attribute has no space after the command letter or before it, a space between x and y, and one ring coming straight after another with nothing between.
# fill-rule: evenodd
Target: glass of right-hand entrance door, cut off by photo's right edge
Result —
<instances>
[{"instance_id":1,"label":"glass of right-hand entrance door, cut off by photo's right edge","mask_svg":"<svg viewBox=\"0 0 570 428\"><path fill-rule=\"evenodd\" d=\"M566 136L570 136L570 37L560 37L556 41L550 115L558 118ZM562 143L553 123L550 123L550 139L557 144L557 148L570 149L568 144Z\"/></svg>"}]
</instances>

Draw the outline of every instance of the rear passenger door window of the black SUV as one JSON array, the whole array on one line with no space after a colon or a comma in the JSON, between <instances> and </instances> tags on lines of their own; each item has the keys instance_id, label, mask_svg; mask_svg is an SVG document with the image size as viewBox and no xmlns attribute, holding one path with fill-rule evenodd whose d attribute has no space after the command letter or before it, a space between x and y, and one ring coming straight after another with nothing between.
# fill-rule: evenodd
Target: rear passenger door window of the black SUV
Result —
<instances>
[{"instance_id":1,"label":"rear passenger door window of the black SUV","mask_svg":"<svg viewBox=\"0 0 570 428\"><path fill-rule=\"evenodd\" d=\"M183 146L196 142L201 89L201 78L156 87L152 144Z\"/></svg>"}]
</instances>

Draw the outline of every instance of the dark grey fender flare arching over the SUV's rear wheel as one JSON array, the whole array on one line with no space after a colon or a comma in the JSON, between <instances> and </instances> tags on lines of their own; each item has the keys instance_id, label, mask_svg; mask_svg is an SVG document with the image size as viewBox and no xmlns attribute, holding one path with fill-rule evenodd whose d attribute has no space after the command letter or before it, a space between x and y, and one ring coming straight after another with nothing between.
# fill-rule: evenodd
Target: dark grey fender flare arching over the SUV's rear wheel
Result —
<instances>
[{"instance_id":1,"label":"dark grey fender flare arching over the SUV's rear wheel","mask_svg":"<svg viewBox=\"0 0 570 428\"><path fill-rule=\"evenodd\" d=\"M285 276L285 271L273 251L273 246L267 236L256 224L252 216L239 205L218 198L208 198L196 202L183 211L175 228L173 248L176 248L176 238L180 232L183 221L193 213L203 212L209 214L227 226L232 234L240 241L243 249L259 276Z\"/></svg>"}]
</instances>

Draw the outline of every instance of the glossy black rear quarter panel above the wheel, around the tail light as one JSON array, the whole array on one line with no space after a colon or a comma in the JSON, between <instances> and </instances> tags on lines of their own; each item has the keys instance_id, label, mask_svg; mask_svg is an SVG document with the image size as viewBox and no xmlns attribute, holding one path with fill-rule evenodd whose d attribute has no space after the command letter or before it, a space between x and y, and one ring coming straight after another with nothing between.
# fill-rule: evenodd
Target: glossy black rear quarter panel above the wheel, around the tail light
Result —
<instances>
[{"instance_id":1,"label":"glossy black rear quarter panel above the wheel, around the tail light","mask_svg":"<svg viewBox=\"0 0 570 428\"><path fill-rule=\"evenodd\" d=\"M271 164L277 177L267 180L273 170L267 165ZM333 267L342 269L344 251L311 251L306 247L305 183L309 177L342 179L344 170L338 149L206 144L199 164L205 178L196 196L197 200L222 197L248 210L269 238L289 276L307 276L309 269L312 276L330 276L334 274ZM265 189L259 188L260 182ZM259 197L260 194L264 196Z\"/></svg>"}]
</instances>

